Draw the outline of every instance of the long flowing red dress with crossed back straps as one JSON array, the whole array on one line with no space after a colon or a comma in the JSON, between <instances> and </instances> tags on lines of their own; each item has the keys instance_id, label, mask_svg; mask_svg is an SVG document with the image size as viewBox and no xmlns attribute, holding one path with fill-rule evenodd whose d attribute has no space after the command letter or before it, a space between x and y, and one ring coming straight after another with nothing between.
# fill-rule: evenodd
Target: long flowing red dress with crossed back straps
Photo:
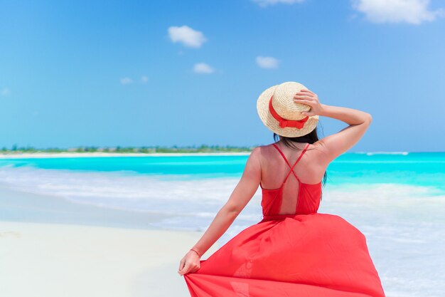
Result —
<instances>
[{"instance_id":1,"label":"long flowing red dress with crossed back straps","mask_svg":"<svg viewBox=\"0 0 445 297\"><path fill-rule=\"evenodd\" d=\"M321 182L304 184L291 166L282 186L264 189L263 219L242 230L200 269L184 274L192 297L385 297L366 238L334 214L317 213ZM299 182L295 214L279 214L282 190Z\"/></svg>"}]
</instances>

